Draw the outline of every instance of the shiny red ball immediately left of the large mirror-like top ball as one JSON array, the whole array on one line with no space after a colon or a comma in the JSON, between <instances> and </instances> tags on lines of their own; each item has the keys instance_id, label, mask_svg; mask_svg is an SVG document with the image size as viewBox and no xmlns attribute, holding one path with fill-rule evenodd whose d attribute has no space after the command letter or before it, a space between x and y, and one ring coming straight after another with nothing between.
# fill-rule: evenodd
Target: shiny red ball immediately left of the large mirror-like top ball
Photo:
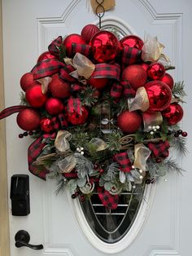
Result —
<instances>
[{"instance_id":1,"label":"shiny red ball immediately left of the large mirror-like top ball","mask_svg":"<svg viewBox=\"0 0 192 256\"><path fill-rule=\"evenodd\" d=\"M81 37L81 35L77 33L72 33L68 35L67 38L64 38L63 45L66 47L66 52L68 57L72 57L72 44L86 44L85 40Z\"/></svg>"}]
</instances>

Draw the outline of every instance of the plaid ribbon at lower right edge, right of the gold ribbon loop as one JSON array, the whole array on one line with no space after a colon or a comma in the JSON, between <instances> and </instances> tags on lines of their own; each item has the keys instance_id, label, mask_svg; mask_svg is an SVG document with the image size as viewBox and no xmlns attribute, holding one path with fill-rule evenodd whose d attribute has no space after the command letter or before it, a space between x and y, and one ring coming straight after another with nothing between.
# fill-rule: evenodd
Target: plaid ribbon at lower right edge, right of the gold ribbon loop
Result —
<instances>
[{"instance_id":1,"label":"plaid ribbon at lower right edge, right of the gold ribbon loop","mask_svg":"<svg viewBox=\"0 0 192 256\"><path fill-rule=\"evenodd\" d=\"M170 147L170 145L167 140L159 143L148 143L147 147L151 149L155 158L168 157L168 148Z\"/></svg>"}]
</instances>

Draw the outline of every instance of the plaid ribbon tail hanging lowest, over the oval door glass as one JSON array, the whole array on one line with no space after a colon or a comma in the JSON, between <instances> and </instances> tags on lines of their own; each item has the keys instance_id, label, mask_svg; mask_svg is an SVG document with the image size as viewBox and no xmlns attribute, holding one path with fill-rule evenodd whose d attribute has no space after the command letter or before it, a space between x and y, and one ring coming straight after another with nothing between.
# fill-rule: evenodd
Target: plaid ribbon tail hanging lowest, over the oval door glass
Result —
<instances>
[{"instance_id":1,"label":"plaid ribbon tail hanging lowest, over the oval door glass","mask_svg":"<svg viewBox=\"0 0 192 256\"><path fill-rule=\"evenodd\" d=\"M118 195L111 195L110 192L104 188L98 187L98 197L102 201L103 205L108 209L115 210L119 201Z\"/></svg>"}]
</instances>

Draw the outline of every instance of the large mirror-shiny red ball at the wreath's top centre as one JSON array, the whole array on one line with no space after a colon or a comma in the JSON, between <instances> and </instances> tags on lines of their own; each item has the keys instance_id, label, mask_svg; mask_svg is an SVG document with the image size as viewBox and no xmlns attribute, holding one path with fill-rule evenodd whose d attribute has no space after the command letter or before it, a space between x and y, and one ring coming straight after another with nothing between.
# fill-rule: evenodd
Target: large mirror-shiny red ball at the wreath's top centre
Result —
<instances>
[{"instance_id":1,"label":"large mirror-shiny red ball at the wreath's top centre","mask_svg":"<svg viewBox=\"0 0 192 256\"><path fill-rule=\"evenodd\" d=\"M98 63L115 60L120 51L120 42L109 31L100 31L91 38L89 45L92 48L94 60Z\"/></svg>"}]
</instances>

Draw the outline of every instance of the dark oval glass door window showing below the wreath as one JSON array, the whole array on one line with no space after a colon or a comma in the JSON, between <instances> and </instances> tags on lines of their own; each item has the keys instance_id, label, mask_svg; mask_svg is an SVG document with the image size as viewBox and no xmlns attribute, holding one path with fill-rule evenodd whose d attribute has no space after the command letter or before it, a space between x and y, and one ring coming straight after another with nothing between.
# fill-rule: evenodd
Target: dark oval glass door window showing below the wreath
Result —
<instances>
[{"instance_id":1,"label":"dark oval glass door window showing below the wreath","mask_svg":"<svg viewBox=\"0 0 192 256\"><path fill-rule=\"evenodd\" d=\"M137 186L132 192L122 192L116 210L103 206L98 194L89 201L81 202L89 227L102 241L112 244L120 241L129 232L142 202L145 186Z\"/></svg>"}]
</instances>

